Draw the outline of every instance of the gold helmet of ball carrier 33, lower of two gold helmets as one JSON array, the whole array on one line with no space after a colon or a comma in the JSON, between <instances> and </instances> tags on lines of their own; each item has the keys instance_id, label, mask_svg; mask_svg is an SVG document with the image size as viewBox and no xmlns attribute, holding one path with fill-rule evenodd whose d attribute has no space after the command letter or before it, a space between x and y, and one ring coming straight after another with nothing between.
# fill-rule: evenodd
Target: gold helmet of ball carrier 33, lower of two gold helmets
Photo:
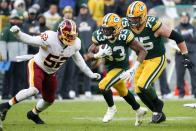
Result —
<instances>
[{"instance_id":1,"label":"gold helmet of ball carrier 33, lower of two gold helmets","mask_svg":"<svg viewBox=\"0 0 196 131\"><path fill-rule=\"evenodd\" d=\"M121 23L121 18L117 14L108 13L103 18L101 32L107 39L112 39L120 33L122 29Z\"/></svg>"}]
</instances>

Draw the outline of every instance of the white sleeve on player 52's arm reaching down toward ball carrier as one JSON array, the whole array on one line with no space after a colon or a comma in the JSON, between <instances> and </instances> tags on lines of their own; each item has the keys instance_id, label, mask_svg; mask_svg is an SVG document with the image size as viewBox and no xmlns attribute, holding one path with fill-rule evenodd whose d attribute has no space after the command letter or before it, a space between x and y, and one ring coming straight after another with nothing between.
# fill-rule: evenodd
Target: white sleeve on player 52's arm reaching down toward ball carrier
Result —
<instances>
[{"instance_id":1,"label":"white sleeve on player 52's arm reaching down toward ball carrier","mask_svg":"<svg viewBox=\"0 0 196 131\"><path fill-rule=\"evenodd\" d=\"M91 69L86 65L83 57L81 56L80 52L77 51L73 56L73 61L76 63L76 65L79 67L79 69L88 77L92 77L93 76L93 72L91 71Z\"/></svg>"}]
</instances>

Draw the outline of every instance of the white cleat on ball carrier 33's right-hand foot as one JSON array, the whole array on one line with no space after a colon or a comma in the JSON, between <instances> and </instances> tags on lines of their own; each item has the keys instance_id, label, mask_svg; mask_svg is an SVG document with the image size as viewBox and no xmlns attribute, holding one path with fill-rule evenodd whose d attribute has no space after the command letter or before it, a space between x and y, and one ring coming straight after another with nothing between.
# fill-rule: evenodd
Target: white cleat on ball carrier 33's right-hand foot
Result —
<instances>
[{"instance_id":1,"label":"white cleat on ball carrier 33's right-hand foot","mask_svg":"<svg viewBox=\"0 0 196 131\"><path fill-rule=\"evenodd\" d=\"M135 120L135 126L140 126L142 124L142 121L144 119L144 116L147 114L148 109L145 107L140 107L136 111L136 120Z\"/></svg>"}]
</instances>

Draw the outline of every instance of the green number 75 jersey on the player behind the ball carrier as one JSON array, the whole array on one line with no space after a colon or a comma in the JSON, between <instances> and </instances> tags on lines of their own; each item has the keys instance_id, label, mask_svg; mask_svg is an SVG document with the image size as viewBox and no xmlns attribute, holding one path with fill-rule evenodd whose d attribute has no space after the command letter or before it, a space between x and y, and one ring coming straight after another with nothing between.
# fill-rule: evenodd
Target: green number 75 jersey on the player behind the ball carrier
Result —
<instances>
[{"instance_id":1,"label":"green number 75 jersey on the player behind the ball carrier","mask_svg":"<svg viewBox=\"0 0 196 131\"><path fill-rule=\"evenodd\" d=\"M156 37L155 32L161 27L161 21L154 16L147 16L146 26L140 33L135 33L129 26L126 18L122 18L122 26L125 29L131 29L135 39L141 42L148 51L146 59L152 59L165 54L164 38Z\"/></svg>"}]
</instances>

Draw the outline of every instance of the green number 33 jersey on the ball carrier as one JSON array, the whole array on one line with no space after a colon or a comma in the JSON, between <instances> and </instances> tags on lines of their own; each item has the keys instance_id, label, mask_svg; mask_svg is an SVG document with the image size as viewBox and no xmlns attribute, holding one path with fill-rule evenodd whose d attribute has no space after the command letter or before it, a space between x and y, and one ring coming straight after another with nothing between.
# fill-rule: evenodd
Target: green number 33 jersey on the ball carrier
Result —
<instances>
[{"instance_id":1,"label":"green number 33 jersey on the ball carrier","mask_svg":"<svg viewBox=\"0 0 196 131\"><path fill-rule=\"evenodd\" d=\"M112 48L112 55L106 57L105 65L108 71L114 68L129 68L129 44L133 41L134 35L130 30L121 30L119 36L114 41L106 39L105 35L98 29L93 32L92 41L94 44L107 44Z\"/></svg>"}]
</instances>

